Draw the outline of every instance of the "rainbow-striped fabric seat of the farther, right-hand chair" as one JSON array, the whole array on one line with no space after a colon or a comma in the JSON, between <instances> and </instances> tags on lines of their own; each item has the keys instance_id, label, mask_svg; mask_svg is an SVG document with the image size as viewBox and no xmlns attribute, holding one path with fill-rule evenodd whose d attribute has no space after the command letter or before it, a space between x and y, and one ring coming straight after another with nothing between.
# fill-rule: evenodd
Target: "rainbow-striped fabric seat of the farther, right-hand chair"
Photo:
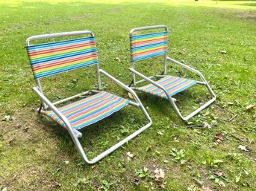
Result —
<instances>
[{"instance_id":1,"label":"rainbow-striped fabric seat of the farther, right-hand chair","mask_svg":"<svg viewBox=\"0 0 256 191\"><path fill-rule=\"evenodd\" d=\"M156 82L162 85L164 88L166 88L166 91L168 91L170 96L173 96L178 92L184 91L185 89L190 88L190 86L196 84L196 80L190 80L190 79L181 78L181 77L172 77L168 75ZM167 99L164 91L152 84L145 85L143 87L135 88L135 89L137 91L142 91L145 94L151 94L156 97L160 97L163 100Z\"/></svg>"}]
</instances>

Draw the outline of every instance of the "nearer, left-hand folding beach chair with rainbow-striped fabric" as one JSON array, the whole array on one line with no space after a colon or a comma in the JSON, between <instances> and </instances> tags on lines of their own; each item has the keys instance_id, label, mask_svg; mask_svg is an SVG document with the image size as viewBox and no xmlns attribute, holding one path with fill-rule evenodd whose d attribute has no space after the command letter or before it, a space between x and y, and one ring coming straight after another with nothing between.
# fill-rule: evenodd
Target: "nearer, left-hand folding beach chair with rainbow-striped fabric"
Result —
<instances>
[{"instance_id":1,"label":"nearer, left-hand folding beach chair with rainbow-striped fabric","mask_svg":"<svg viewBox=\"0 0 256 191\"><path fill-rule=\"evenodd\" d=\"M63 38L63 36L69 36L69 39L43 44L30 44L31 40L46 39L49 41L55 37ZM80 37L78 38L77 36ZM139 135L140 132L143 132L143 130L151 126L152 120L137 97L137 94L135 94L131 88L128 88L127 85L116 80L116 78L107 74L107 72L102 69L99 69L96 39L92 32L84 30L31 36L26 40L26 48L34 74L34 80L37 83L37 87L34 87L33 90L41 100L41 106L38 111L59 123L64 129L67 129L78 149L78 152L88 164L95 164L97 161L110 154L110 152L113 152L115 149L119 148L119 146L122 146L128 140L131 140L133 137ZM51 101L43 94L42 86L40 84L41 78L89 65L96 66L98 90L84 91L81 94L77 94L54 103L51 103ZM134 97L135 102L110 94L106 91L101 91L100 74L103 74L117 85L125 88L126 91L129 91ZM85 95L88 95L88 97L81 98L74 103L69 103L66 106L61 106L60 108L56 107L56 105L60 103L78 99ZM78 138L82 136L82 133L79 132L79 130L110 116L110 114L119 111L127 105L136 106L143 111L143 114L148 121L146 126L143 126L133 134L125 137L125 139L119 141L119 143L116 143L116 145L110 147L110 149L102 152L102 154L93 158L92 161L89 161L81 143L78 140Z\"/></svg>"}]
</instances>

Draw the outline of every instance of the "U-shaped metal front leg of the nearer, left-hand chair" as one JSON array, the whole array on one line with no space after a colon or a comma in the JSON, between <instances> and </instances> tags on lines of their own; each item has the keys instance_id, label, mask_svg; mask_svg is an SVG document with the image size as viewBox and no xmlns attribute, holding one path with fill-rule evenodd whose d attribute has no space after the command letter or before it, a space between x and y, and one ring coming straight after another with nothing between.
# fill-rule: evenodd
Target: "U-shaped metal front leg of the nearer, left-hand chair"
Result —
<instances>
[{"instance_id":1,"label":"U-shaped metal front leg of the nearer, left-hand chair","mask_svg":"<svg viewBox=\"0 0 256 191\"><path fill-rule=\"evenodd\" d=\"M96 156L96 158L93 158L93 160L91 160L91 161L88 160L87 155L85 154L84 149L81 146L80 141L78 140L78 136L76 136L75 133L70 133L69 132L69 135L71 135L72 140L75 143L75 146L77 147L79 154L84 159L84 161L87 162L87 164L96 164L102 158L104 158L105 156L109 155L111 152L115 151L120 146L122 146L123 144L128 142L128 140L131 140L132 138L136 137L137 135L139 135L141 132L143 132L145 129L149 128L149 126L152 125L152 120L149 117L149 114L144 109L144 107L142 105L139 105L138 107L140 107L140 109L142 109L143 114L145 115L145 117L148 120L148 123L145 126L143 126L142 128L138 129L136 132L134 132L131 135L129 135L128 137L125 137L125 139L119 141L119 143L116 143L115 145L111 146L109 149L107 149L106 151L102 152L102 154Z\"/></svg>"}]
</instances>

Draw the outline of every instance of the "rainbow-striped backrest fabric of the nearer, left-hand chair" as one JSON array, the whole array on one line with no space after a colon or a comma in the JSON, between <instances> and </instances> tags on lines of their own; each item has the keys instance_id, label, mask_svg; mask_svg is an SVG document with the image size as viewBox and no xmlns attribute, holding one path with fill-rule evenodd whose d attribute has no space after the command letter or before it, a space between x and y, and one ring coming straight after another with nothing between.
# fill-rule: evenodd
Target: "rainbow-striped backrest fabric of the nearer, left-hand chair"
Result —
<instances>
[{"instance_id":1,"label":"rainbow-striped backrest fabric of the nearer, left-hand chair","mask_svg":"<svg viewBox=\"0 0 256 191\"><path fill-rule=\"evenodd\" d=\"M27 47L34 78L98 63L94 36Z\"/></svg>"}]
</instances>

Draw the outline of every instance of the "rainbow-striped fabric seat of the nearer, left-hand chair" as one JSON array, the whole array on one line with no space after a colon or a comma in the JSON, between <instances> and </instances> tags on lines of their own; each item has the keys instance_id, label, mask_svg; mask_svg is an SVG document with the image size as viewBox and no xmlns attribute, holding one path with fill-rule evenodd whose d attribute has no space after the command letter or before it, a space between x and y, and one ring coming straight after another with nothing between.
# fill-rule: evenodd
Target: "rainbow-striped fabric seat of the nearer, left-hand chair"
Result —
<instances>
[{"instance_id":1,"label":"rainbow-striped fabric seat of the nearer, left-hand chair","mask_svg":"<svg viewBox=\"0 0 256 191\"><path fill-rule=\"evenodd\" d=\"M59 111L66 116L72 128L81 129L119 111L124 106L127 106L129 102L129 100L122 97L100 91L93 96L60 107ZM60 126L65 127L63 120L60 120L53 111L46 111L45 114L59 123Z\"/></svg>"}]
</instances>

